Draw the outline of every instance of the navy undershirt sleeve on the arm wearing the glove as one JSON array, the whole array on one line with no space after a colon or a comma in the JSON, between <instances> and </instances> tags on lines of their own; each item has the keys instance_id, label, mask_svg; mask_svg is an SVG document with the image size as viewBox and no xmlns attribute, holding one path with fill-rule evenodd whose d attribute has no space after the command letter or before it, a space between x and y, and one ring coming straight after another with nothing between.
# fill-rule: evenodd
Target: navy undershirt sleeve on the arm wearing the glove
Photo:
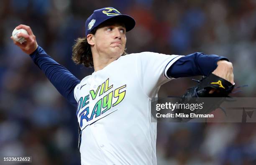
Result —
<instances>
[{"instance_id":1,"label":"navy undershirt sleeve on the arm wearing the glove","mask_svg":"<svg viewBox=\"0 0 256 165\"><path fill-rule=\"evenodd\" d=\"M172 78L189 76L208 76L217 68L219 60L229 61L228 58L204 53L193 53L179 58L167 70L167 76Z\"/></svg>"}]
</instances>

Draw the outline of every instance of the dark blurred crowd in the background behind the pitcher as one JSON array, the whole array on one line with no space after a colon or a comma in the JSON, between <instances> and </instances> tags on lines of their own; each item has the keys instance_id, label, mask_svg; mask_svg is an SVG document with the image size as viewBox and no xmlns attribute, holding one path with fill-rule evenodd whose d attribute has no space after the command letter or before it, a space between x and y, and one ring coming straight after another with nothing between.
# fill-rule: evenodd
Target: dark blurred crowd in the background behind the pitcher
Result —
<instances>
[{"instance_id":1,"label":"dark blurred crowd in the background behind the pitcher","mask_svg":"<svg viewBox=\"0 0 256 165\"><path fill-rule=\"evenodd\" d=\"M29 25L38 45L82 79L93 69L72 62L72 46L85 36L93 10L103 7L135 18L128 53L226 56L236 85L249 85L233 96L256 95L255 0L1 0L0 157L32 156L31 165L80 164L76 108L10 36L17 25ZM172 80L159 96L180 96L194 85L191 78ZM256 164L255 123L159 123L157 132L159 165Z\"/></svg>"}]
</instances>

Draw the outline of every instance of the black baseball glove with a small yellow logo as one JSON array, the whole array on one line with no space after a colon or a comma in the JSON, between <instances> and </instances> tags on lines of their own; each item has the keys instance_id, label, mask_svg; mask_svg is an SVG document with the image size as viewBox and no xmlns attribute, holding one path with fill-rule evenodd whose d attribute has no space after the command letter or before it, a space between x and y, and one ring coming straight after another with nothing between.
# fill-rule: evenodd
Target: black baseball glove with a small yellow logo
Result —
<instances>
[{"instance_id":1,"label":"black baseball glove with a small yellow logo","mask_svg":"<svg viewBox=\"0 0 256 165\"><path fill-rule=\"evenodd\" d=\"M205 99L203 109L195 109L193 112L187 109L176 109L175 113L184 114L208 114L215 109L220 107L220 104L225 101L225 97L229 97L228 94L231 93L234 86L229 81L216 76L215 74L210 74L209 76L203 76L197 86L194 86L187 90L187 92L179 100L179 104L197 104L202 97L215 97L212 99ZM210 90L215 89L215 91L210 94ZM224 111L225 112L225 111ZM186 122L192 118L179 118L179 121Z\"/></svg>"}]
</instances>

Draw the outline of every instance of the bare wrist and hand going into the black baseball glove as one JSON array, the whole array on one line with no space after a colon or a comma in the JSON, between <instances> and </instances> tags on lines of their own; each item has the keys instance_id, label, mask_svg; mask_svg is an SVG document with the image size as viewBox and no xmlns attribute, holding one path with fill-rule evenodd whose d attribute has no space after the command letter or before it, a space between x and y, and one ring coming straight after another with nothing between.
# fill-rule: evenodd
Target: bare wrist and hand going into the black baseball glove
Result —
<instances>
[{"instance_id":1,"label":"bare wrist and hand going into the black baseball glove","mask_svg":"<svg viewBox=\"0 0 256 165\"><path fill-rule=\"evenodd\" d=\"M231 84L235 84L232 63L225 60L220 60L217 62L217 65L217 68L212 72L212 74L229 81ZM215 91L215 89L211 89L209 94L212 94Z\"/></svg>"}]
</instances>

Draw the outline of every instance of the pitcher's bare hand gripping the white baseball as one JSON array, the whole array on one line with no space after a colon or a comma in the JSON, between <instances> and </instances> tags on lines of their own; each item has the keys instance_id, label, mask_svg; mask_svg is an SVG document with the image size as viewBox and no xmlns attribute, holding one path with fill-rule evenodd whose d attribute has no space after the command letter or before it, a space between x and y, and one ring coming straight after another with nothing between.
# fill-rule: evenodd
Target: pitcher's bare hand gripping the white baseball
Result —
<instances>
[{"instance_id":1,"label":"pitcher's bare hand gripping the white baseball","mask_svg":"<svg viewBox=\"0 0 256 165\"><path fill-rule=\"evenodd\" d=\"M24 37L26 39L26 42L23 43L19 43L17 41L14 41L13 36L11 36L10 38L13 40L13 43L15 45L17 45L18 47L20 47L20 49L27 53L27 54L31 54L33 53L36 48L38 47L37 43L36 43L36 36L33 34L31 28L27 25L18 25L16 27L16 29L25 29L28 32L27 34L24 33L19 33L17 35L17 37Z\"/></svg>"}]
</instances>

